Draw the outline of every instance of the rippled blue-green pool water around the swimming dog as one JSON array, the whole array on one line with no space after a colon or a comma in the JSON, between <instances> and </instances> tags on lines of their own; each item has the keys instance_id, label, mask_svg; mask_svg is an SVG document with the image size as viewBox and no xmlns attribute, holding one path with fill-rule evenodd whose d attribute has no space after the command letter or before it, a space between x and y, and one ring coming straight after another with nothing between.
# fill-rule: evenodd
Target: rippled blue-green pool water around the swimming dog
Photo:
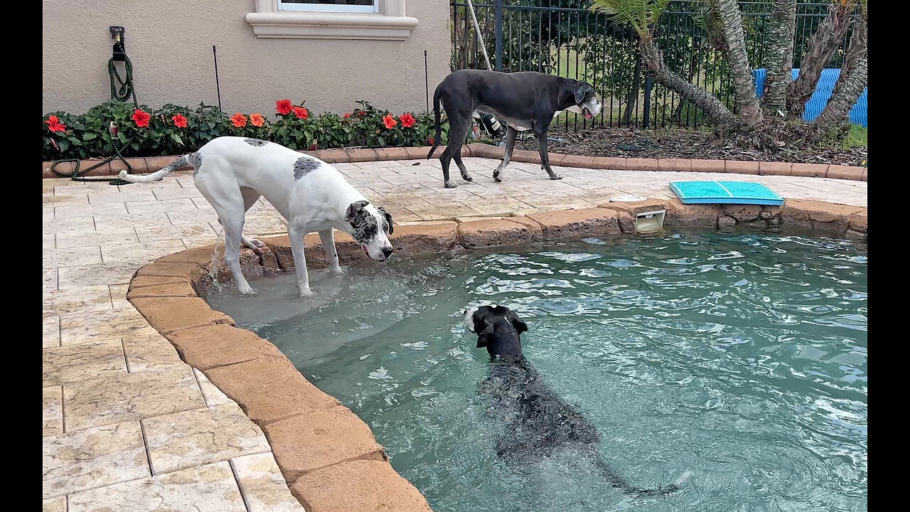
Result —
<instances>
[{"instance_id":1,"label":"rippled blue-green pool water around the swimming dog","mask_svg":"<svg viewBox=\"0 0 910 512\"><path fill-rule=\"evenodd\" d=\"M867 260L854 241L676 232L370 262L209 297L373 429L444 511L865 510ZM571 453L505 464L466 307L509 306L524 353L634 486Z\"/></svg>"}]
</instances>

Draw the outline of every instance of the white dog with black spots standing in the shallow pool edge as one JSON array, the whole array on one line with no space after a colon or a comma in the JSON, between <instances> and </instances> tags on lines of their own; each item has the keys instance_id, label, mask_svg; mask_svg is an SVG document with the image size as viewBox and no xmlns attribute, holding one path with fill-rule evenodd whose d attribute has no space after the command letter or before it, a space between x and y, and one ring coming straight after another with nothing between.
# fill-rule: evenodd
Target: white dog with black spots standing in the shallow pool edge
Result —
<instances>
[{"instance_id":1,"label":"white dog with black spots standing in the shallow pool edge","mask_svg":"<svg viewBox=\"0 0 910 512\"><path fill-rule=\"evenodd\" d=\"M344 271L339 266L332 228L349 233L371 260L386 261L392 253L387 236L392 232L392 217L386 210L370 204L338 169L273 142L219 137L157 172L135 176L123 171L119 177L146 183L187 165L194 168L196 188L224 226L225 260L241 294L256 294L240 271L240 248L246 246L258 253L265 247L261 241L243 236L246 212L260 196L288 220L301 297L312 295L303 252L303 237L307 233L319 232L332 273Z\"/></svg>"}]
</instances>

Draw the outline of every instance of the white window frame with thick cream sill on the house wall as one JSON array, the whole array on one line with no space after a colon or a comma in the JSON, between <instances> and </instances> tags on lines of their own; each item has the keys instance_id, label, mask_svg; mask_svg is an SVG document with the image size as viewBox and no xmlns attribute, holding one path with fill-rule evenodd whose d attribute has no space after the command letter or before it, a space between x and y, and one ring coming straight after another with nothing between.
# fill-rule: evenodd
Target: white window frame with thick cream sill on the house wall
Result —
<instances>
[{"instance_id":1,"label":"white window frame with thick cream sill on the house wall","mask_svg":"<svg viewBox=\"0 0 910 512\"><path fill-rule=\"evenodd\" d=\"M418 25L417 18L407 15L407 1L419 0L374 0L376 12L359 13L349 10L279 9L279 5L288 4L280 0L255 0L256 10L247 13L245 19L253 27L253 33L261 38L404 41ZM331 8L357 6L319 5Z\"/></svg>"}]
</instances>

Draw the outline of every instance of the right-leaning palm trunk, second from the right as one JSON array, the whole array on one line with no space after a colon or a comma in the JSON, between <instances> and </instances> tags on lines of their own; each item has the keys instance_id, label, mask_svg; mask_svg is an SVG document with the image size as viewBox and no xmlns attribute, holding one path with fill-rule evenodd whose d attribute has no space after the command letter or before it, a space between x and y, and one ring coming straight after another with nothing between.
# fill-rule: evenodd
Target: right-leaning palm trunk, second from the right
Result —
<instances>
[{"instance_id":1,"label":"right-leaning palm trunk, second from the right","mask_svg":"<svg viewBox=\"0 0 910 512\"><path fill-rule=\"evenodd\" d=\"M828 7L828 15L815 29L809 39L809 50L800 63L799 77L787 87L787 110L790 116L801 118L805 102L815 92L818 80L822 77L822 70L828 65L837 46L844 41L844 35L850 28L855 2L853 0L838 1Z\"/></svg>"}]
</instances>

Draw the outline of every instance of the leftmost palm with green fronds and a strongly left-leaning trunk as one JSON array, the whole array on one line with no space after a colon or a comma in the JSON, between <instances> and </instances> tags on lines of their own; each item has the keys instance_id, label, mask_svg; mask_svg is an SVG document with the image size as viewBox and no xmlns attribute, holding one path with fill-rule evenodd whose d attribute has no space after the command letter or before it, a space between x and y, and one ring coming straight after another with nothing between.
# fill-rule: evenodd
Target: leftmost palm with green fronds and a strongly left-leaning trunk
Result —
<instances>
[{"instance_id":1,"label":"leftmost palm with green fronds and a strongly left-leaning trunk","mask_svg":"<svg viewBox=\"0 0 910 512\"><path fill-rule=\"evenodd\" d=\"M718 128L732 128L736 117L729 108L707 90L673 73L663 64L661 49L654 40L657 26L670 0L594 0L591 10L600 12L619 25L629 26L638 35L642 63L655 82L671 89L702 108Z\"/></svg>"}]
</instances>

